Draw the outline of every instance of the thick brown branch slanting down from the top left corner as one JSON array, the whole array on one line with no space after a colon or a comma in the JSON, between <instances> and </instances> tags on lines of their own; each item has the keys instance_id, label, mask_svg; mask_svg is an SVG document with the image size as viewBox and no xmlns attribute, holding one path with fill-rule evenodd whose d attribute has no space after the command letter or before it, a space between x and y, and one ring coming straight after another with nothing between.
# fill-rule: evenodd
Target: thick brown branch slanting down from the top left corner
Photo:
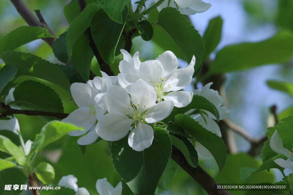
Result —
<instances>
[{"instance_id":1,"label":"thick brown branch slanting down from the top left corner","mask_svg":"<svg viewBox=\"0 0 293 195\"><path fill-rule=\"evenodd\" d=\"M28 25L46 28L49 31L49 33L54 36L43 38L43 40L52 47L53 43L55 42L56 36L54 35L53 31L48 27L48 25L46 23L40 22L40 20L38 20L38 18L36 18L35 15L33 15L33 13L28 9L28 7L23 3L22 0L10 1L14 5L18 13L21 15L21 17L25 20L25 22L28 23Z\"/></svg>"}]
</instances>

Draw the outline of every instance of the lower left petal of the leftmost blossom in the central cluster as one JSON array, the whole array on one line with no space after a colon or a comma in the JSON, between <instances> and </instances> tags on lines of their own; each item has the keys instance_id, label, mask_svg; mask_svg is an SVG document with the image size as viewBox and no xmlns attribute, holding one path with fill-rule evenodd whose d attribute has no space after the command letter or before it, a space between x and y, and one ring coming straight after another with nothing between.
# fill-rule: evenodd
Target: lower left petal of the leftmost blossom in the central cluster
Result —
<instances>
[{"instance_id":1,"label":"lower left petal of the leftmost blossom in the central cluster","mask_svg":"<svg viewBox=\"0 0 293 195\"><path fill-rule=\"evenodd\" d=\"M75 130L68 134L71 136L79 136L88 132L96 123L96 114L89 114L89 107L81 107L70 113L62 122L68 122L78 127L84 127L85 131ZM89 119L88 119L89 118ZM90 122L91 121L91 122Z\"/></svg>"}]
</instances>

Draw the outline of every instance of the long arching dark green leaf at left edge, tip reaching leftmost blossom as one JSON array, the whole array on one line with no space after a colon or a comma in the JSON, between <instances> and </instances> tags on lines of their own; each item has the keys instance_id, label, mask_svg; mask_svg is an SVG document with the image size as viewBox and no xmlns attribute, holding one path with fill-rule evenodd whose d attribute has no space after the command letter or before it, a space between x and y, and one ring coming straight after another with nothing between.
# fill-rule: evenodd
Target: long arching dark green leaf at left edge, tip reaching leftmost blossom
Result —
<instances>
[{"instance_id":1,"label":"long arching dark green leaf at left edge, tip reaching leftmost blossom","mask_svg":"<svg viewBox=\"0 0 293 195\"><path fill-rule=\"evenodd\" d=\"M70 83L66 75L56 64L52 64L29 53L8 51L1 55L3 61L18 68L16 77L27 75L52 82L70 93Z\"/></svg>"}]
</instances>

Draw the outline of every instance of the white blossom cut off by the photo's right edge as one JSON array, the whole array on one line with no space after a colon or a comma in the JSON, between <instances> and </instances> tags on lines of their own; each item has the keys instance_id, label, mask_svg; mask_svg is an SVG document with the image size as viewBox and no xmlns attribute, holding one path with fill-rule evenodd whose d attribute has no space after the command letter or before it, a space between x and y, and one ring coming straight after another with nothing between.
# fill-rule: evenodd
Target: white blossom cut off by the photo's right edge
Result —
<instances>
[{"instance_id":1,"label":"white blossom cut off by the photo's right edge","mask_svg":"<svg viewBox=\"0 0 293 195\"><path fill-rule=\"evenodd\" d=\"M289 151L287 148L284 148L283 141L280 138L277 130L275 130L274 134L271 137L270 140L270 147L271 149L278 153L278 154L284 154L288 157L289 161L284 160L283 158L277 158L274 160L274 162L283 167L283 168L291 168L293 167L293 154L292 151Z\"/></svg>"}]
</instances>

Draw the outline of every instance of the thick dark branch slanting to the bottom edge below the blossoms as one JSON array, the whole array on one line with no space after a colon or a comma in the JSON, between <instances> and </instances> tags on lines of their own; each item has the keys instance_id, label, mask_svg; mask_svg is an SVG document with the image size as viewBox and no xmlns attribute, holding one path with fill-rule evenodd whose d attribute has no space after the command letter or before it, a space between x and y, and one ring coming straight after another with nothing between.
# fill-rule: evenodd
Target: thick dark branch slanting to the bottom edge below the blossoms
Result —
<instances>
[{"instance_id":1,"label":"thick dark branch slanting to the bottom edge below the blossoms","mask_svg":"<svg viewBox=\"0 0 293 195\"><path fill-rule=\"evenodd\" d=\"M199 165L194 168L190 166L184 157L183 153L172 146L172 153L171 158L185 170L200 186L205 189L205 191L210 195L224 195L224 194L231 194L228 191L216 191L215 185L218 183L207 173L203 170Z\"/></svg>"}]
</instances>

